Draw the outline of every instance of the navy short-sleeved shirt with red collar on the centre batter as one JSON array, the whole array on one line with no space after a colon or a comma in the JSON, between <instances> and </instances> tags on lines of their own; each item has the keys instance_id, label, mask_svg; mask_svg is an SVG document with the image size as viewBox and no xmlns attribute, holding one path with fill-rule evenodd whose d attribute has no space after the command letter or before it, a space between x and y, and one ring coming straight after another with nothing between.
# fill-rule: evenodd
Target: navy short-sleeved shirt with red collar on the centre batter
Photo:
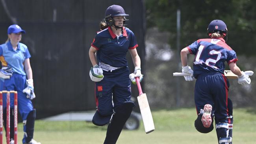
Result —
<instances>
[{"instance_id":1,"label":"navy short-sleeved shirt with red collar on the centre batter","mask_svg":"<svg viewBox=\"0 0 256 144\"><path fill-rule=\"evenodd\" d=\"M134 33L123 27L123 33L117 37L110 27L99 31L91 46L97 50L97 61L114 67L128 66L126 53L138 46Z\"/></svg>"}]
</instances>

